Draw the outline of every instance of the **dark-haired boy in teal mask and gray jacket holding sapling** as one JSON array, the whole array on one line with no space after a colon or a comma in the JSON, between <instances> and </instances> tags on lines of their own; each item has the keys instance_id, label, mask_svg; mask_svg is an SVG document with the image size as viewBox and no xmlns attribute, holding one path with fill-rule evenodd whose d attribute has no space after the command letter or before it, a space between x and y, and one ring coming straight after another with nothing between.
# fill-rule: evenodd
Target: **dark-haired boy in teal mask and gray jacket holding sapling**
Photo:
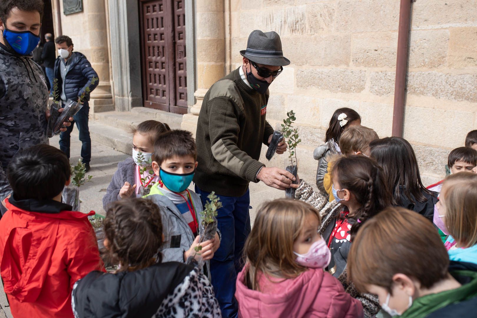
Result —
<instances>
[{"instance_id":1,"label":"dark-haired boy in teal mask and gray jacket holding sapling","mask_svg":"<svg viewBox=\"0 0 477 318\"><path fill-rule=\"evenodd\" d=\"M208 260L220 245L220 233L199 244L202 202L199 195L187 189L197 167L197 148L192 134L184 130L161 134L154 144L152 159L152 168L160 180L144 197L153 200L161 210L165 236L161 247L163 262L184 263L200 245L200 256L206 261L203 272L210 279Z\"/></svg>"}]
</instances>

